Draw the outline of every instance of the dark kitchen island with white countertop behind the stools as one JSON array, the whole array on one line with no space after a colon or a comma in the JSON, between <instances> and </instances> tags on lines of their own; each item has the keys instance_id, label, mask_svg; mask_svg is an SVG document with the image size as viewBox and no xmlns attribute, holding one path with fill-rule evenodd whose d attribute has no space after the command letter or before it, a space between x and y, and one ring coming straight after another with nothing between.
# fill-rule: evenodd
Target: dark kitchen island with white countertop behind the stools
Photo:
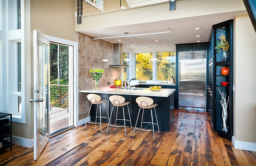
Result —
<instances>
[{"instance_id":1,"label":"dark kitchen island with white countertop behind the stools","mask_svg":"<svg viewBox=\"0 0 256 166\"><path fill-rule=\"evenodd\" d=\"M108 86L101 87L99 90L94 89L85 89L80 90L79 92L82 93L94 93L99 94L102 97L102 100L108 100L107 106L108 106L108 113L110 114L112 109L112 103L109 102L109 97L111 95L120 95L125 97L125 101L129 101L129 111L132 121L132 126L135 126L138 112L140 107L136 103L136 98L140 96L146 96L150 97L154 100L154 103L157 103L156 112L157 112L157 120L159 123L159 129L160 131L166 131L169 132L172 128L173 124L173 118L174 118L174 97L175 97L175 89L161 89L160 92L152 92L149 88L131 88L131 89L118 89L118 88L110 88ZM87 94L84 94L87 95ZM124 107L127 109L127 107ZM119 108L120 109L120 108ZM105 109L105 106L102 107L102 114L107 115L107 110ZM127 111L125 111L127 112ZM91 120L95 120L96 116L96 106L93 107L93 109L90 112ZM116 108L113 110L113 117L111 117L111 123L115 122L116 119ZM122 117L122 112L118 112L118 117ZM153 115L154 121L155 115ZM142 115L140 114L137 126L140 126L140 119ZM125 114L125 118L128 119L128 113ZM104 118L103 118L104 119ZM150 121L151 120L151 114L150 112L145 113L143 117L143 121ZM107 120L105 121L106 123ZM120 123L122 125L122 122ZM145 123L143 123L143 127L151 129L151 126L144 126ZM128 123L126 123L128 125ZM146 125L146 124L145 124ZM155 128L156 129L156 128Z\"/></svg>"}]
</instances>

